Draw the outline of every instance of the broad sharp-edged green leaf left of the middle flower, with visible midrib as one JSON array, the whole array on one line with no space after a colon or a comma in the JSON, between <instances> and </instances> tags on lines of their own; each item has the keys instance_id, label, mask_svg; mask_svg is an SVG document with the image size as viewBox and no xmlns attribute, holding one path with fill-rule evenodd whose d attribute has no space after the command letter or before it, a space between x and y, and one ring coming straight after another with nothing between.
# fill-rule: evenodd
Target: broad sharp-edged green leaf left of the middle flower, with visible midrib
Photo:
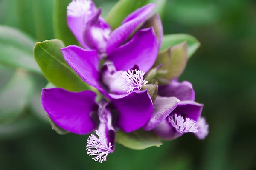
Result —
<instances>
[{"instance_id":1,"label":"broad sharp-edged green leaf left of the middle flower, with visible midrib","mask_svg":"<svg viewBox=\"0 0 256 170\"><path fill-rule=\"evenodd\" d=\"M37 42L34 57L46 79L56 87L68 91L84 91L90 88L65 61L60 40Z\"/></svg>"}]
</instances>

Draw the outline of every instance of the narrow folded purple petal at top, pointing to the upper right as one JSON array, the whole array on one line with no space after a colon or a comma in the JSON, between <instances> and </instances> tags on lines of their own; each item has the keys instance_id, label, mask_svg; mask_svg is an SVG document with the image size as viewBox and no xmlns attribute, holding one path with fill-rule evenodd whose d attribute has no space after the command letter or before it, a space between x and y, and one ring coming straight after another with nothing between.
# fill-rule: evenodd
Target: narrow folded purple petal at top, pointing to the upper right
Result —
<instances>
[{"instance_id":1,"label":"narrow folded purple petal at top, pointing to the upper right","mask_svg":"<svg viewBox=\"0 0 256 170\"><path fill-rule=\"evenodd\" d=\"M107 53L111 53L114 48L125 42L135 29L151 14L154 7L155 4L148 4L128 15L122 25L111 33L107 43Z\"/></svg>"}]
</instances>

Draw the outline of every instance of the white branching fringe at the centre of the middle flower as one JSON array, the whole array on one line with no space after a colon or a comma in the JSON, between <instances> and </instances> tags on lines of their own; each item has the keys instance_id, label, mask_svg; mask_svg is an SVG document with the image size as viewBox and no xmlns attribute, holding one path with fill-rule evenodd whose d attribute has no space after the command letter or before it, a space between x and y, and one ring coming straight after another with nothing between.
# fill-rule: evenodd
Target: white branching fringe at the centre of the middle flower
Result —
<instances>
[{"instance_id":1,"label":"white branching fringe at the centre of the middle flower","mask_svg":"<svg viewBox=\"0 0 256 170\"><path fill-rule=\"evenodd\" d=\"M135 74L134 74L135 72ZM127 93L131 93L135 88L140 90L142 86L145 86L148 81L143 79L145 75L144 71L140 70L128 70L121 73L121 83L123 85L124 90L127 90Z\"/></svg>"}]
</instances>

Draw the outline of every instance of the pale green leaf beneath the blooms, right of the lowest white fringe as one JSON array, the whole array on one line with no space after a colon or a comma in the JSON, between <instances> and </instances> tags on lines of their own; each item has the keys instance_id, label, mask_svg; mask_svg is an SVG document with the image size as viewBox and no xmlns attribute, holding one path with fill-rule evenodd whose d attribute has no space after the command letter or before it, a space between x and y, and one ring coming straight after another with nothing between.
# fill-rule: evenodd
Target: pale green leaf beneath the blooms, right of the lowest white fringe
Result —
<instances>
[{"instance_id":1,"label":"pale green leaf beneath the blooms, right of the lowest white fringe","mask_svg":"<svg viewBox=\"0 0 256 170\"><path fill-rule=\"evenodd\" d=\"M143 150L151 146L160 147L163 144L154 133L144 130L136 130L131 133L124 133L120 130L116 133L116 142L136 150Z\"/></svg>"}]
</instances>

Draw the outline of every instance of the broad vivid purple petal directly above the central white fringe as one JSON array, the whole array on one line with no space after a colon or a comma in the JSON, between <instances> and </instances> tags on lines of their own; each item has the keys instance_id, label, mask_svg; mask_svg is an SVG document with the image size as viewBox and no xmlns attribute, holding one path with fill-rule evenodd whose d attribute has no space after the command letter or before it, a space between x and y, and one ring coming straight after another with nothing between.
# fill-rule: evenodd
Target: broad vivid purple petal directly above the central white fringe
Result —
<instances>
[{"instance_id":1,"label":"broad vivid purple petal directly above the central white fringe","mask_svg":"<svg viewBox=\"0 0 256 170\"><path fill-rule=\"evenodd\" d=\"M114 49L108 54L108 59L114 63L116 70L126 71L134 65L147 72L157 58L158 42L153 28L146 28L137 32L125 45Z\"/></svg>"}]
</instances>

